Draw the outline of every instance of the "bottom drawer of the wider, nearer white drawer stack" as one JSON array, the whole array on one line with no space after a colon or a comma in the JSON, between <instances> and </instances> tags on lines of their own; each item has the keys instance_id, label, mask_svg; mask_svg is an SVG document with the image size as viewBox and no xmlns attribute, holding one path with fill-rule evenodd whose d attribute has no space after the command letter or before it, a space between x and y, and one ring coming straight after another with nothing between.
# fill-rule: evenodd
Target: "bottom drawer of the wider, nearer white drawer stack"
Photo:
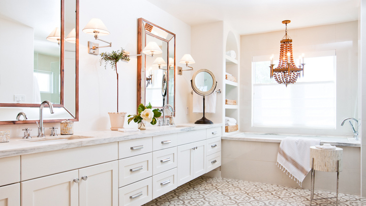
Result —
<instances>
[{"instance_id":1,"label":"bottom drawer of the wider, nearer white drawer stack","mask_svg":"<svg viewBox=\"0 0 366 206\"><path fill-rule=\"evenodd\" d=\"M118 189L118 205L142 205L153 200L153 178L147 178L137 183Z\"/></svg>"}]
</instances>

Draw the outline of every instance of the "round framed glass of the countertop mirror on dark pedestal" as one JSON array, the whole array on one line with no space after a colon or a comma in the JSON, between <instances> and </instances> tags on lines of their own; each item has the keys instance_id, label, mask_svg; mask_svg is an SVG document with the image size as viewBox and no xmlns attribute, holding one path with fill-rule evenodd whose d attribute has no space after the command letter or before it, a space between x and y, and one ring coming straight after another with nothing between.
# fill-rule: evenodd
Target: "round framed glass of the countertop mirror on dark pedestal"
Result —
<instances>
[{"instance_id":1,"label":"round framed glass of the countertop mirror on dark pedestal","mask_svg":"<svg viewBox=\"0 0 366 206\"><path fill-rule=\"evenodd\" d=\"M192 77L192 87L197 94L207 96L214 92L216 78L214 74L207 69L198 70Z\"/></svg>"}]
</instances>

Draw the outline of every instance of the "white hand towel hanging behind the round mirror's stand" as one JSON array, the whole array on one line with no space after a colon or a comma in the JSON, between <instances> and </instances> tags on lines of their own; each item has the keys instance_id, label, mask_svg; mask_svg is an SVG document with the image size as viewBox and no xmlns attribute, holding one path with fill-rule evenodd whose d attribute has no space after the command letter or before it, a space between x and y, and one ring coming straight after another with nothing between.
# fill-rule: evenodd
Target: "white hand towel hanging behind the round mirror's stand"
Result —
<instances>
[{"instance_id":1,"label":"white hand towel hanging behind the round mirror's stand","mask_svg":"<svg viewBox=\"0 0 366 206\"><path fill-rule=\"evenodd\" d=\"M193 92L193 112L202 113L203 112L203 96L197 95ZM205 113L215 113L216 112L216 92L205 96Z\"/></svg>"}]
</instances>

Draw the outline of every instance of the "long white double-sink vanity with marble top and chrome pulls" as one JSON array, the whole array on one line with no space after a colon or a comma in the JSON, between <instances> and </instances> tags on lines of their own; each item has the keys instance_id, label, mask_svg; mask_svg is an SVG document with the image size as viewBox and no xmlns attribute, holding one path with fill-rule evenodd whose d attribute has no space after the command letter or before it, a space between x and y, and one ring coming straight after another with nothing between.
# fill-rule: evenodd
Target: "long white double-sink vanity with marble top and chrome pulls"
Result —
<instances>
[{"instance_id":1,"label":"long white double-sink vanity with marble top and chrome pulls","mask_svg":"<svg viewBox=\"0 0 366 206\"><path fill-rule=\"evenodd\" d=\"M221 126L11 138L0 205L142 205L219 167Z\"/></svg>"}]
</instances>

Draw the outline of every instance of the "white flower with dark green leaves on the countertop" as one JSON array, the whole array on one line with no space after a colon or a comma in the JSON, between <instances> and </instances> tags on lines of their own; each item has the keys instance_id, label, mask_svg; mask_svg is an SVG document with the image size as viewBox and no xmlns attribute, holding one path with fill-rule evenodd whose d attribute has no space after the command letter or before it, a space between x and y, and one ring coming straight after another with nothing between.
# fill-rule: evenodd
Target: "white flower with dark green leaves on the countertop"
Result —
<instances>
[{"instance_id":1,"label":"white flower with dark green leaves on the countertop","mask_svg":"<svg viewBox=\"0 0 366 206\"><path fill-rule=\"evenodd\" d=\"M146 123L150 123L151 125L155 125L157 123L157 118L161 116L161 112L159 109L154 109L151 106L150 102L147 106L140 104L137 108L138 114L129 114L128 124L133 120L138 124L138 128L141 130L146 129Z\"/></svg>"}]
</instances>

